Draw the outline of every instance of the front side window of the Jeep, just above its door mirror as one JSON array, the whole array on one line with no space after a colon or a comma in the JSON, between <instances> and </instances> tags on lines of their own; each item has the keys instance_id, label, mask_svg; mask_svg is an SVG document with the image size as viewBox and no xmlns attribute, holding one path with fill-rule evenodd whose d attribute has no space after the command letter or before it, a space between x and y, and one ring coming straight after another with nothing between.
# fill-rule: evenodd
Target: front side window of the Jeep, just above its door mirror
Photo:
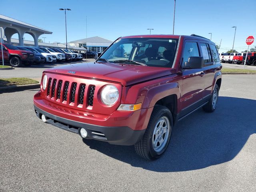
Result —
<instances>
[{"instance_id":1,"label":"front side window of the Jeep, just above its door mirror","mask_svg":"<svg viewBox=\"0 0 256 192\"><path fill-rule=\"evenodd\" d=\"M197 43L186 42L182 57L183 57L182 66L184 66L184 63L188 61L189 57L199 57Z\"/></svg>"}]
</instances>

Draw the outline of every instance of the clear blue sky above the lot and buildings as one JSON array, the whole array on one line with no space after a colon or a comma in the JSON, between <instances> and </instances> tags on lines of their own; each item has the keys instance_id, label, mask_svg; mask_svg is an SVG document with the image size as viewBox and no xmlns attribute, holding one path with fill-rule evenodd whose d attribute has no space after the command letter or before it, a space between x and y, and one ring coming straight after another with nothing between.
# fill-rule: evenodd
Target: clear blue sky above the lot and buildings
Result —
<instances>
[{"instance_id":1,"label":"clear blue sky above the lot and buildings","mask_svg":"<svg viewBox=\"0 0 256 192\"><path fill-rule=\"evenodd\" d=\"M64 11L67 12L68 42L100 36L115 40L120 36L172 34L174 0L12 0L2 1L0 14L52 31L46 42L65 42ZM251 6L250 6L251 5ZM221 43L220 52L247 48L245 39L256 37L255 0L176 0L174 34L198 34ZM13 36L15 38L15 35ZM32 37L25 34L26 40ZM41 36L42 37L42 36ZM256 43L254 43L256 44ZM254 45L252 44L252 45Z\"/></svg>"}]
</instances>

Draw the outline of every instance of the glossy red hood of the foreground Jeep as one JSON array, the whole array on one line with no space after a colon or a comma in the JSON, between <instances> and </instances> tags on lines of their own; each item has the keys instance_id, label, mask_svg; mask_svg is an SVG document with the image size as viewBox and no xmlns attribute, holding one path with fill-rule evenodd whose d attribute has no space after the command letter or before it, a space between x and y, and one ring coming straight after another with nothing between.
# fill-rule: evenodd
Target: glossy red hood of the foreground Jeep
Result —
<instances>
[{"instance_id":1,"label":"glossy red hood of the foreground Jeep","mask_svg":"<svg viewBox=\"0 0 256 192\"><path fill-rule=\"evenodd\" d=\"M68 71L76 72L70 74ZM120 82L123 86L159 78L175 73L174 69L138 65L123 65L110 63L71 64L44 70L44 72L74 75Z\"/></svg>"}]
</instances>

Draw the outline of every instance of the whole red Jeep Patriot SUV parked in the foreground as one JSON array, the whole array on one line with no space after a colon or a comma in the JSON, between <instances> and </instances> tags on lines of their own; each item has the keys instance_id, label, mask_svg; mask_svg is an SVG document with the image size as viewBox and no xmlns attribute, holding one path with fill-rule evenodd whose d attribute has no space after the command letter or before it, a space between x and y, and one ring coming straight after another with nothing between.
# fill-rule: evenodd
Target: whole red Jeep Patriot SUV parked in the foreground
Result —
<instances>
[{"instance_id":1,"label":"whole red Jeep Patriot SUV parked in the foreground","mask_svg":"<svg viewBox=\"0 0 256 192\"><path fill-rule=\"evenodd\" d=\"M175 122L200 107L215 110L221 68L215 44L194 34L121 37L94 63L45 70L34 108L44 122L135 145L152 160L166 150Z\"/></svg>"}]
</instances>

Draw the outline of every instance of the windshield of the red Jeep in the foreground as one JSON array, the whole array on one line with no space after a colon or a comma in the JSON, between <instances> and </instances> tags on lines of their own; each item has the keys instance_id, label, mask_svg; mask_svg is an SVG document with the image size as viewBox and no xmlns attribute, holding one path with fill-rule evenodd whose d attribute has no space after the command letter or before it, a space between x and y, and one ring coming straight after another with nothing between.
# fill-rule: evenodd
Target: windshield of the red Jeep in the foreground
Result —
<instances>
[{"instance_id":1,"label":"windshield of the red Jeep in the foreground","mask_svg":"<svg viewBox=\"0 0 256 192\"><path fill-rule=\"evenodd\" d=\"M171 67L178 39L124 38L118 39L100 56L112 63L143 63L154 67Z\"/></svg>"}]
</instances>

